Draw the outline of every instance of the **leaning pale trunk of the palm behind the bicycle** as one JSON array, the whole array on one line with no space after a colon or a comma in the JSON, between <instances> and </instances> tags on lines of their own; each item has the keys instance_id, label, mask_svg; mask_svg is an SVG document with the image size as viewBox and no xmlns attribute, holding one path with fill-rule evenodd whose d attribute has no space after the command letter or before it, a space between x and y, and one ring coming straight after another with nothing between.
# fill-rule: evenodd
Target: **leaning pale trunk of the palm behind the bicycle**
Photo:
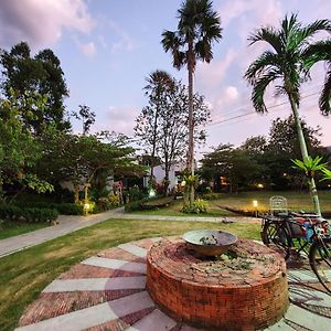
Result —
<instances>
[{"instance_id":1,"label":"leaning pale trunk of the palm behind the bicycle","mask_svg":"<svg viewBox=\"0 0 331 331\"><path fill-rule=\"evenodd\" d=\"M307 145L306 145L306 140L305 140L305 136L303 136L303 131L302 131L301 120L300 120L297 105L296 105L293 98L291 96L289 96L289 99L290 99L290 104L291 104L291 108L292 108L292 113L293 113L295 121L296 121L296 126L297 126L297 131L298 131L298 136L299 136L299 143L300 143L302 160L306 161L308 159L309 154L308 154ZM313 178L308 178L308 186L309 186L309 191L310 191L310 194L312 197L314 212L318 215L321 215L319 196L317 193L317 188L316 188Z\"/></svg>"}]
</instances>

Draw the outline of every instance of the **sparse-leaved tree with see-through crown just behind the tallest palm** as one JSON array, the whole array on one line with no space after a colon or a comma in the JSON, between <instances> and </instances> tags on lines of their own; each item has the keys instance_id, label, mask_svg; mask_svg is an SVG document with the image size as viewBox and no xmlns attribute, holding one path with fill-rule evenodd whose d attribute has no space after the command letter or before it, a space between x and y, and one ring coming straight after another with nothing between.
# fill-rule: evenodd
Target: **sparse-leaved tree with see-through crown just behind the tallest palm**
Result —
<instances>
[{"instance_id":1,"label":"sparse-leaved tree with see-through crown just behind the tallest palm","mask_svg":"<svg viewBox=\"0 0 331 331\"><path fill-rule=\"evenodd\" d=\"M143 107L136 119L135 134L140 142L154 149L156 157L164 164L164 181L169 181L171 166L181 161L185 156L188 146L188 90L186 87L174 78L172 88L164 90L162 102L150 98L149 106ZM205 141L205 130L210 118L210 110L204 97L199 94L193 98L194 138L197 143ZM154 121L156 111L158 121Z\"/></svg>"}]
</instances>

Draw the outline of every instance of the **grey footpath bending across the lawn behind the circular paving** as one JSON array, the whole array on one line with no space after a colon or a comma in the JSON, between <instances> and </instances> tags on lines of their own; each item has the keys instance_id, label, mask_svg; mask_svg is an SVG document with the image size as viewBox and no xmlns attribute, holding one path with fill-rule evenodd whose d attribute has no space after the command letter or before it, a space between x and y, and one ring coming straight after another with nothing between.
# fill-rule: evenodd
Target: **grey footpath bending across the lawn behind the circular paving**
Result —
<instances>
[{"instance_id":1,"label":"grey footpath bending across the lawn behind the circular paving","mask_svg":"<svg viewBox=\"0 0 331 331\"><path fill-rule=\"evenodd\" d=\"M214 223L259 223L258 218L253 217L194 217L194 216L158 216L158 215L138 215L125 214L124 207L107 211L96 215L88 216L67 216L60 215L57 221L60 224L55 226L44 227L34 232L22 234L15 237L0 241L0 258L15 252L42 244L44 242L64 236L77 229L92 226L94 224L104 222L109 218L124 218L124 220L156 220L156 221L200 221L200 222L214 222Z\"/></svg>"}]
</instances>

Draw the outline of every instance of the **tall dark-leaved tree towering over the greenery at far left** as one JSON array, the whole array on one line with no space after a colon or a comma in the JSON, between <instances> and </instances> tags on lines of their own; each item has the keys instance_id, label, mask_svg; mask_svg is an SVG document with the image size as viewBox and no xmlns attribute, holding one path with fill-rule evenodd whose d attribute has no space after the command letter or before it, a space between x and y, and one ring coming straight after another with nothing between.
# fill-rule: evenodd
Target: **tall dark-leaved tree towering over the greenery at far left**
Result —
<instances>
[{"instance_id":1,"label":"tall dark-leaved tree towering over the greenery at far left","mask_svg":"<svg viewBox=\"0 0 331 331\"><path fill-rule=\"evenodd\" d=\"M22 114L26 127L38 135L50 124L54 124L60 130L71 128L64 107L68 89L60 60L52 50L43 50L32 57L29 45L22 42L10 52L2 50L0 64L3 79L1 87L7 98L11 97L10 89L15 90L18 98L24 98L25 92L47 96L45 109L34 109L33 118Z\"/></svg>"}]
</instances>

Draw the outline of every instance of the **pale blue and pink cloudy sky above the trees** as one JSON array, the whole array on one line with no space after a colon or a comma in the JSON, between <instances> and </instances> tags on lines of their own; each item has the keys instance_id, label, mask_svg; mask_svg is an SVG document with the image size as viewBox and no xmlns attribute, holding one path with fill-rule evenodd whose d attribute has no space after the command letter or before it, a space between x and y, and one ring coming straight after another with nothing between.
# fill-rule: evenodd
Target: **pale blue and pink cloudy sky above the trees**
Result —
<instances>
[{"instance_id":1,"label":"pale blue and pink cloudy sky above the trees","mask_svg":"<svg viewBox=\"0 0 331 331\"><path fill-rule=\"evenodd\" d=\"M93 130L132 135L135 118L147 104L142 87L154 70L168 71L186 82L186 71L171 66L162 50L163 30L175 30L180 0L1 0L0 47L26 41L33 52L51 47L60 57L70 98L67 109L88 105L97 115ZM271 120L290 114L286 99L268 90L266 115L255 114L250 88L242 78L264 44L248 47L247 36L261 25L278 25L286 13L297 12L303 23L331 14L330 0L214 0L223 39L215 44L211 64L199 63L195 90L212 110L205 147L241 145L266 135ZM318 93L324 67L317 66L302 89L301 116L320 126L322 143L331 145L331 119L319 114ZM79 130L78 124L74 128Z\"/></svg>"}]
</instances>

